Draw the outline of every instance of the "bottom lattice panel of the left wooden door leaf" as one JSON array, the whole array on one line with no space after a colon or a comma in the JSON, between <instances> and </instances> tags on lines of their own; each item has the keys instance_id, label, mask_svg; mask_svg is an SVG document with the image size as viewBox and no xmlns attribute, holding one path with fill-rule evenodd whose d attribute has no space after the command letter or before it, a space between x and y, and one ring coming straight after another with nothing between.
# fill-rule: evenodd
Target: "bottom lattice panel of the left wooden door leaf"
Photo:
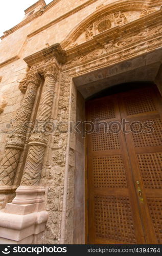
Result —
<instances>
[{"instance_id":1,"label":"bottom lattice panel of the left wooden door leaf","mask_svg":"<svg viewBox=\"0 0 162 256\"><path fill-rule=\"evenodd\" d=\"M97 238L136 243L128 197L95 196L95 226Z\"/></svg>"}]
</instances>

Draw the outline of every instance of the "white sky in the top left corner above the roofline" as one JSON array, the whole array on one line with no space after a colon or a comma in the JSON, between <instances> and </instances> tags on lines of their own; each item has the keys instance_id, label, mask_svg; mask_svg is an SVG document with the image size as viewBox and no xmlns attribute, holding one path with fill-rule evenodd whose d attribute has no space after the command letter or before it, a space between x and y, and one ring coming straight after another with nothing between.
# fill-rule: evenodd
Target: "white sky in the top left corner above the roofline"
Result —
<instances>
[{"instance_id":1,"label":"white sky in the top left corner above the roofline","mask_svg":"<svg viewBox=\"0 0 162 256\"><path fill-rule=\"evenodd\" d=\"M37 2L37 0L0 0L0 36L11 29L24 18L24 10ZM52 0L45 0L48 5Z\"/></svg>"}]
</instances>

